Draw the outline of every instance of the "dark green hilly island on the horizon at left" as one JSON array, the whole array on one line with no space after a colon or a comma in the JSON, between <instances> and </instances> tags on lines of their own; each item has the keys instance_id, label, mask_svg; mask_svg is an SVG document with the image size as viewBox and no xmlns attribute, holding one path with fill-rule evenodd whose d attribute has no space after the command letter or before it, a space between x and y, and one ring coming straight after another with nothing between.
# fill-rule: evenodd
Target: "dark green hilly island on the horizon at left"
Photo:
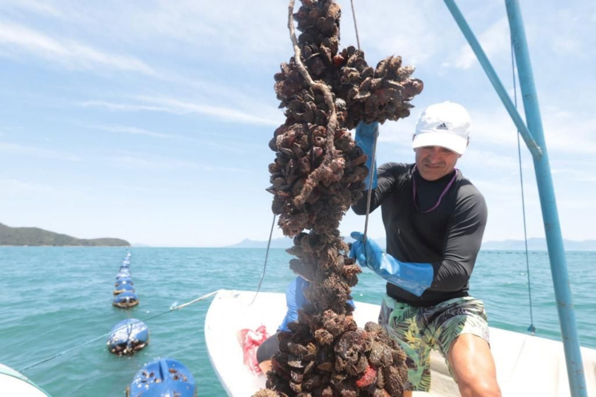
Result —
<instances>
[{"instance_id":1,"label":"dark green hilly island on the horizon at left","mask_svg":"<svg viewBox=\"0 0 596 397\"><path fill-rule=\"evenodd\" d=\"M76 238L40 228L13 228L0 224L0 246L110 246L128 247L120 238Z\"/></svg>"}]
</instances>

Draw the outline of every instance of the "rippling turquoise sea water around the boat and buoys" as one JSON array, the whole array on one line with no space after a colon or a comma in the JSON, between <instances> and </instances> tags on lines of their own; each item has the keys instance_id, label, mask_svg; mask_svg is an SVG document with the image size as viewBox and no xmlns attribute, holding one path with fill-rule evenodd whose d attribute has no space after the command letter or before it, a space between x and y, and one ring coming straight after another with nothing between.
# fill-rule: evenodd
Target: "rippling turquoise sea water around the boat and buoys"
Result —
<instances>
[{"instance_id":1,"label":"rippling turquoise sea water around the boat and buoys","mask_svg":"<svg viewBox=\"0 0 596 397\"><path fill-rule=\"evenodd\" d=\"M140 304L111 306L114 277L126 249L111 247L0 247L0 362L17 370L109 333L119 321L167 311L217 289L254 290L264 249L132 248L131 274ZM290 256L269 253L262 290L283 292L294 277ZM578 333L596 348L596 252L567 253ZM534 324L538 336L560 337L545 252L530 253ZM354 297L379 303L384 283L371 272L360 277ZM525 332L530 324L524 253L480 252L471 293L485 300L493 327ZM147 321L147 348L129 357L108 353L106 338L24 371L54 397L124 395L142 365L159 356L182 361L194 374L200 396L222 396L206 355L204 317L209 300ZM281 320L281 319L280 319Z\"/></svg>"}]
</instances>

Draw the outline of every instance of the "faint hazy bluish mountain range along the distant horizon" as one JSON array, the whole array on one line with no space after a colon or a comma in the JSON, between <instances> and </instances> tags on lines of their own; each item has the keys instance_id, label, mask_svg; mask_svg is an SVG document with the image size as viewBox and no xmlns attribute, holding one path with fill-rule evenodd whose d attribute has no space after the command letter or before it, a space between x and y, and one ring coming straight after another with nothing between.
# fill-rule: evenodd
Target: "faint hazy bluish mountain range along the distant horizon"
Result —
<instances>
[{"instance_id":1,"label":"faint hazy bluish mountain range along the distant horizon","mask_svg":"<svg viewBox=\"0 0 596 397\"><path fill-rule=\"evenodd\" d=\"M346 241L353 241L351 237L345 237ZM381 248L385 249L385 238L374 239ZM290 248L293 246L291 238L281 237L271 240L271 248ZM563 245L566 251L596 251L596 240L573 241L563 239ZM246 238L240 243L232 244L226 248L266 248L267 241L255 241ZM545 238L532 237L527 240L527 248L530 251L546 251L547 241ZM523 251L526 249L523 240L505 240L505 241L486 241L482 244L483 250L504 250L504 251Z\"/></svg>"}]
</instances>

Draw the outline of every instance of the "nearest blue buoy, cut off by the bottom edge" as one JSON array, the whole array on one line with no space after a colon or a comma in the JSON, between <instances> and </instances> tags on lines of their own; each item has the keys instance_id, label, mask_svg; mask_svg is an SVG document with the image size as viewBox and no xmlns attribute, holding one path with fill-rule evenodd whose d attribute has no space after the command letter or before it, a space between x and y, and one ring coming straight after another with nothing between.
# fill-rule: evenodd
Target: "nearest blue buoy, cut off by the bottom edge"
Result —
<instances>
[{"instance_id":1,"label":"nearest blue buoy, cut off by the bottom edge","mask_svg":"<svg viewBox=\"0 0 596 397\"><path fill-rule=\"evenodd\" d=\"M193 374L180 361L162 358L148 362L136 373L127 397L195 397Z\"/></svg>"}]
</instances>

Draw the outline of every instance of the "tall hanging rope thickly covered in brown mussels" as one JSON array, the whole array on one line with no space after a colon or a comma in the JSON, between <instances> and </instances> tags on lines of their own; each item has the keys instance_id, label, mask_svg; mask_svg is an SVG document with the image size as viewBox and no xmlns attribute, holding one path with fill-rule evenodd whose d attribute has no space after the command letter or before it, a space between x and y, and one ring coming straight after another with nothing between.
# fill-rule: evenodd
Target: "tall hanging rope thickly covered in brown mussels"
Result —
<instances>
[{"instance_id":1,"label":"tall hanging rope thickly covered in brown mussels","mask_svg":"<svg viewBox=\"0 0 596 397\"><path fill-rule=\"evenodd\" d=\"M339 52L340 6L301 1L293 14L302 32L296 57L275 75L286 120L269 142L276 158L268 191L278 225L294 237L290 268L311 281L309 304L288 325L291 332L278 334L268 390L257 396L401 396L405 355L378 325L362 330L351 317L347 301L361 269L346 255L339 223L362 197L368 173L349 129L409 116L409 101L423 83L410 77L414 68L402 66L400 57L373 69L364 52L351 46Z\"/></svg>"}]
</instances>

